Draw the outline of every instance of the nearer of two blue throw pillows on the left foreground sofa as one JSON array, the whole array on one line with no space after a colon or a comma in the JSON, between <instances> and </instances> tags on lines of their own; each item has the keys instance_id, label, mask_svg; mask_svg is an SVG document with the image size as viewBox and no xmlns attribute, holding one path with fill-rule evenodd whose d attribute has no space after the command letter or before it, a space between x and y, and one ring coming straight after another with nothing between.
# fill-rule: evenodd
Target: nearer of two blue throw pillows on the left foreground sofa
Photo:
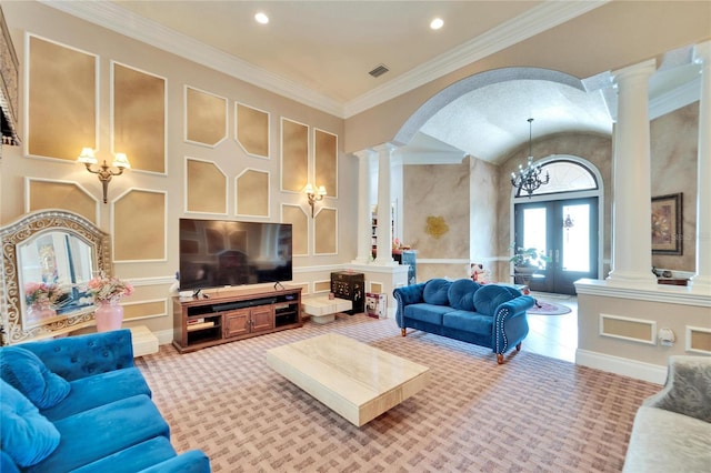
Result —
<instances>
[{"instance_id":1,"label":"nearer of two blue throw pillows on the left foreground sofa","mask_svg":"<svg viewBox=\"0 0 711 473\"><path fill-rule=\"evenodd\" d=\"M2 451L21 467L47 459L59 445L59 431L18 390L0 380Z\"/></svg>"}]
</instances>

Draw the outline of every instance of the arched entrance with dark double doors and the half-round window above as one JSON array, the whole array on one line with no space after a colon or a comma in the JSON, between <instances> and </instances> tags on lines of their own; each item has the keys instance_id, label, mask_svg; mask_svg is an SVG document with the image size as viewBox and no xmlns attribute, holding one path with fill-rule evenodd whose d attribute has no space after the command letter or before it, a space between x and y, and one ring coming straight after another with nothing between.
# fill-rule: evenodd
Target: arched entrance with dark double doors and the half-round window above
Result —
<instances>
[{"instance_id":1,"label":"arched entrance with dark double doors and the half-round window above","mask_svg":"<svg viewBox=\"0 0 711 473\"><path fill-rule=\"evenodd\" d=\"M514 244L550 259L524 281L531 290L574 294L575 281L598 279L601 271L602 179L594 165L577 157L557 155L541 167L550 174L548 184L531 198L513 190Z\"/></svg>"}]
</instances>

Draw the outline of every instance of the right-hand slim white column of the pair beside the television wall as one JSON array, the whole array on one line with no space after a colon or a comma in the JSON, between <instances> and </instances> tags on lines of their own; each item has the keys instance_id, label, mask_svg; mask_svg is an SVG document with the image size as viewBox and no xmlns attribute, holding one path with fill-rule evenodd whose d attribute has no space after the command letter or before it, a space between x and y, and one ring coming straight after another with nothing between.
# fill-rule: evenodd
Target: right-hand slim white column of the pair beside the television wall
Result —
<instances>
[{"instance_id":1,"label":"right-hand slim white column of the pair beside the television wall","mask_svg":"<svg viewBox=\"0 0 711 473\"><path fill-rule=\"evenodd\" d=\"M392 259L392 192L390 182L390 165L392 152L395 150L390 143L379 145L378 151L378 256L375 264L397 264Z\"/></svg>"}]
</instances>

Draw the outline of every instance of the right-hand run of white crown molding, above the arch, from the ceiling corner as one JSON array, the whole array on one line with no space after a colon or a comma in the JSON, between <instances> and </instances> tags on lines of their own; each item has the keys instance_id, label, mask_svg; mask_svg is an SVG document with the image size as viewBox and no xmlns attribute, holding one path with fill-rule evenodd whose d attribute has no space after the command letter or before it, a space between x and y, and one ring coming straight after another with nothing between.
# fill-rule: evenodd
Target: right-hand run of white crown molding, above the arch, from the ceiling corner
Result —
<instances>
[{"instance_id":1,"label":"right-hand run of white crown molding, above the arch, from the ceiling corner","mask_svg":"<svg viewBox=\"0 0 711 473\"><path fill-rule=\"evenodd\" d=\"M346 118L394 99L442 76L479 61L540 32L584 14L610 0L584 2L549 1L425 62L372 91L346 103Z\"/></svg>"}]
</instances>

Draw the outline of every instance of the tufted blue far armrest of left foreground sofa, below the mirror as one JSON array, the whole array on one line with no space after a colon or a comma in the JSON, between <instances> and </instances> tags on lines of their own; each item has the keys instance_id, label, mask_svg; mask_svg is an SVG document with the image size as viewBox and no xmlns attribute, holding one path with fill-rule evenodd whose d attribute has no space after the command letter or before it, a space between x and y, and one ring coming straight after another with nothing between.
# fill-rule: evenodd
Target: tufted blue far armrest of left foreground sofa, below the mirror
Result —
<instances>
[{"instance_id":1,"label":"tufted blue far armrest of left foreground sofa, below the mirror","mask_svg":"<svg viewBox=\"0 0 711 473\"><path fill-rule=\"evenodd\" d=\"M133 366L128 329L23 343L44 365L67 381Z\"/></svg>"}]
</instances>

